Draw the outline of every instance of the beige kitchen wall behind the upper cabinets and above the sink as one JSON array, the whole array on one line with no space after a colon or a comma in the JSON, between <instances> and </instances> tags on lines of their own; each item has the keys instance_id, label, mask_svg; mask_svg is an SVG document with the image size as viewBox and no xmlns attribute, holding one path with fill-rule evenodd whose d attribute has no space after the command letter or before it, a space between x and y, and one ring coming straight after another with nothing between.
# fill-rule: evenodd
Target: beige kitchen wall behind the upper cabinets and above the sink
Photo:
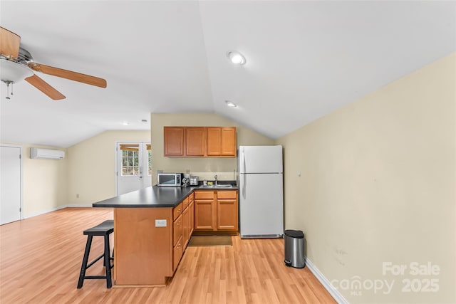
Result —
<instances>
[{"instance_id":1,"label":"beige kitchen wall behind the upper cabinets and above the sink","mask_svg":"<svg viewBox=\"0 0 456 304\"><path fill-rule=\"evenodd\" d=\"M273 145L269 137L260 135L248 127L243 127L232 120L215 114L165 114L150 115L152 142L152 184L157 184L157 170L164 172L191 172L201 178L219 174L219 179L234 179L237 170L237 158L222 157L164 157L163 127L164 126L203 126L203 127L237 127L237 146L242 145Z\"/></svg>"}]
</instances>

